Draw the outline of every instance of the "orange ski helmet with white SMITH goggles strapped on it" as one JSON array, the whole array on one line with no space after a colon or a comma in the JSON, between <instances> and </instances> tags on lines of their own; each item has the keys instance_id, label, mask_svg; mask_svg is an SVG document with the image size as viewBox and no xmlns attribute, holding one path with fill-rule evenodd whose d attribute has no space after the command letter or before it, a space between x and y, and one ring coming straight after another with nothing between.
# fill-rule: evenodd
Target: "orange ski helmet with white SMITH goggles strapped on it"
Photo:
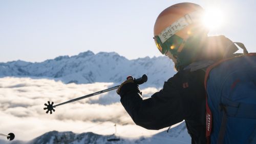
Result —
<instances>
[{"instance_id":1,"label":"orange ski helmet with white SMITH goggles strapped on it","mask_svg":"<svg viewBox=\"0 0 256 144\"><path fill-rule=\"evenodd\" d=\"M163 10L154 26L154 39L159 51L166 54L169 50L177 56L189 37L200 31L208 32L202 23L203 14L204 9L193 3L179 3Z\"/></svg>"}]
</instances>

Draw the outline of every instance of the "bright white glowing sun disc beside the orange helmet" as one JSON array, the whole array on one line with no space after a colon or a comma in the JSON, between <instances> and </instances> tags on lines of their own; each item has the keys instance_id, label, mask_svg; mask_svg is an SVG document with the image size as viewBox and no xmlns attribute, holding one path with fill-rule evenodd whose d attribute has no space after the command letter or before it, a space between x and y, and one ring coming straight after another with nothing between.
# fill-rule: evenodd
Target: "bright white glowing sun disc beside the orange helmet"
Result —
<instances>
[{"instance_id":1,"label":"bright white glowing sun disc beside the orange helmet","mask_svg":"<svg viewBox=\"0 0 256 144\"><path fill-rule=\"evenodd\" d=\"M220 28L224 23L224 13L217 8L209 8L203 16L203 24L209 30Z\"/></svg>"}]
</instances>

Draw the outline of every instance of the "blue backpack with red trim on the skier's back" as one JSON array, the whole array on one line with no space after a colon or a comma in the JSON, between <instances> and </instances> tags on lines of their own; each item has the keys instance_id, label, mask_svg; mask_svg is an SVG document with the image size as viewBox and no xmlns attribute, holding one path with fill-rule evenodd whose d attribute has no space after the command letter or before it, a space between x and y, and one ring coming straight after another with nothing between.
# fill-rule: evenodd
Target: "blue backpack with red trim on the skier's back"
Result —
<instances>
[{"instance_id":1,"label":"blue backpack with red trim on the skier's back","mask_svg":"<svg viewBox=\"0 0 256 144\"><path fill-rule=\"evenodd\" d=\"M206 138L256 143L256 53L218 61L205 74Z\"/></svg>"}]
</instances>

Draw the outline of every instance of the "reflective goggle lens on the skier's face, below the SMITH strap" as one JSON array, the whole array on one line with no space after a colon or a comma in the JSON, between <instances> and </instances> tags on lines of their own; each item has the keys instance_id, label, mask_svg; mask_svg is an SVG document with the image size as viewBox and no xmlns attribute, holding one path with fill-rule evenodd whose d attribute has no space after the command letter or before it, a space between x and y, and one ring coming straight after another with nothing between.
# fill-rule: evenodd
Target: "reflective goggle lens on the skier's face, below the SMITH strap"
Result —
<instances>
[{"instance_id":1,"label":"reflective goggle lens on the skier's face, below the SMITH strap","mask_svg":"<svg viewBox=\"0 0 256 144\"><path fill-rule=\"evenodd\" d=\"M166 54L169 50L170 53L172 53L173 55L177 55L177 53L181 51L185 43L183 38L175 34L168 38L164 43L161 42L159 36L155 36L154 40L158 50L162 54Z\"/></svg>"}]
</instances>

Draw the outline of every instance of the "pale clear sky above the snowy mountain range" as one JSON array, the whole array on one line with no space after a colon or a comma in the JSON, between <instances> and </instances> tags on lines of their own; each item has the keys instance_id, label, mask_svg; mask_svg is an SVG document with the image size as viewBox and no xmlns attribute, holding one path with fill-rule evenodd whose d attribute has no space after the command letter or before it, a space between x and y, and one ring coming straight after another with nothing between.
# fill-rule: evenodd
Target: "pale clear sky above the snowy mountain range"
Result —
<instances>
[{"instance_id":1,"label":"pale clear sky above the snowy mountain range","mask_svg":"<svg viewBox=\"0 0 256 144\"><path fill-rule=\"evenodd\" d=\"M88 50L117 52L128 59L160 56L153 40L155 20L162 10L181 2L221 11L223 23L209 35L225 35L256 51L253 0L0 0L0 62L41 62Z\"/></svg>"}]
</instances>

